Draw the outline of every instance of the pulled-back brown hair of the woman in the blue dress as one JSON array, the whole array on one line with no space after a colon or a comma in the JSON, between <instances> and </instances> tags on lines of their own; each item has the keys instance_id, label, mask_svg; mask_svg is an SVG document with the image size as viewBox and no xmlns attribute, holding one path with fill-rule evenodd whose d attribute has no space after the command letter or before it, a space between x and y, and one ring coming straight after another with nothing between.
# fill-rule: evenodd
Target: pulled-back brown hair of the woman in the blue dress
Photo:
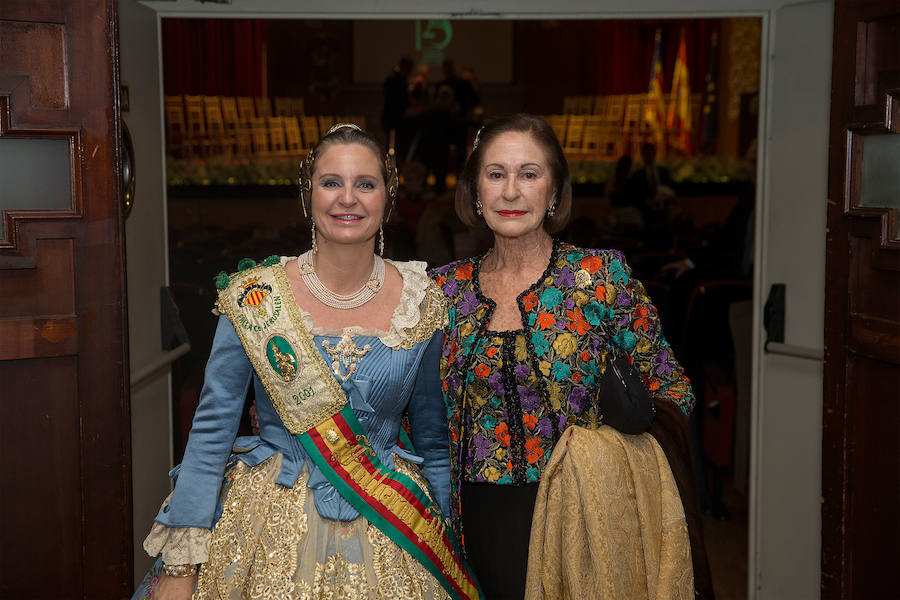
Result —
<instances>
[{"instance_id":1,"label":"pulled-back brown hair of the woman in the blue dress","mask_svg":"<svg viewBox=\"0 0 900 600\"><path fill-rule=\"evenodd\" d=\"M397 199L397 166L393 155L385 151L381 142L371 134L363 131L356 125L344 124L341 127L331 128L328 133L313 146L306 158L300 163L300 208L304 215L311 215L312 208L312 175L316 172L316 162L329 147L338 144L359 144L365 146L375 154L381 163L381 177L384 179L386 205L384 221L387 222Z\"/></svg>"}]
</instances>

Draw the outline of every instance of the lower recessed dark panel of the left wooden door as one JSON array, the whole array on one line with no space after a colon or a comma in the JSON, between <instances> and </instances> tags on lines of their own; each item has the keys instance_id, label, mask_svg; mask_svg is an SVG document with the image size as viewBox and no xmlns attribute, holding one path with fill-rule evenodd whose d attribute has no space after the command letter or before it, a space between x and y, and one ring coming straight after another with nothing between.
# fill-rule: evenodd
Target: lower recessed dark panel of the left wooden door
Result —
<instances>
[{"instance_id":1,"label":"lower recessed dark panel of the left wooden door","mask_svg":"<svg viewBox=\"0 0 900 600\"><path fill-rule=\"evenodd\" d=\"M20 406L39 407L7 406L7 418L0 419L0 453L6 457L0 488L3 598L80 597L84 536L78 498L87 490L79 453L68 443L78 429L77 363L74 355L0 362L4 395ZM35 506L45 510L35 514ZM63 582L74 589L63 592Z\"/></svg>"}]
</instances>

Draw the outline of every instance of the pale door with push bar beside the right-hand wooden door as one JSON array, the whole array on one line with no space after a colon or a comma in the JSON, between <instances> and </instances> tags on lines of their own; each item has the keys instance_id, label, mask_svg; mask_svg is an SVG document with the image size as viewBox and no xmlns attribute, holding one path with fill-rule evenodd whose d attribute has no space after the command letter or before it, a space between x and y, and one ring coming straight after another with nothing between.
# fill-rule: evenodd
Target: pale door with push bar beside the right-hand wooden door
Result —
<instances>
[{"instance_id":1,"label":"pale door with push bar beside the right-hand wooden door","mask_svg":"<svg viewBox=\"0 0 900 600\"><path fill-rule=\"evenodd\" d=\"M775 11L770 21L765 202L757 220L757 306L773 283L786 284L785 342L817 350L825 327L833 14L832 2L810 2ZM761 326L758 334L761 345ZM818 598L823 365L772 354L757 360L753 583L760 598Z\"/></svg>"}]
</instances>

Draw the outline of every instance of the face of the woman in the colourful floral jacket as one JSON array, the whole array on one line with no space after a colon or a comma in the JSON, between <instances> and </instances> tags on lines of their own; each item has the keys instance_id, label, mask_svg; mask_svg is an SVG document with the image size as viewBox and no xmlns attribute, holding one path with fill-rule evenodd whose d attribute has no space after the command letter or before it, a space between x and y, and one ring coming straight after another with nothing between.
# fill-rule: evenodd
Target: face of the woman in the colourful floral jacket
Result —
<instances>
[{"instance_id":1,"label":"face of the woman in the colourful floral jacket","mask_svg":"<svg viewBox=\"0 0 900 600\"><path fill-rule=\"evenodd\" d=\"M484 149L478 199L496 235L515 238L540 229L552 194L547 157L530 134L502 133Z\"/></svg>"}]
</instances>

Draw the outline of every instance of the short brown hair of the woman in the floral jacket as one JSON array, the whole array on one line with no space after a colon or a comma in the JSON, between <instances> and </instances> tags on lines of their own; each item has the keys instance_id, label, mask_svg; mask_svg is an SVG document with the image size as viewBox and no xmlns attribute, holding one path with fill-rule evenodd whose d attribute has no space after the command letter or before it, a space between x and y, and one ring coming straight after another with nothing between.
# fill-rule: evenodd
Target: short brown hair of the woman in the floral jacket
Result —
<instances>
[{"instance_id":1,"label":"short brown hair of the woman in the floral jacket","mask_svg":"<svg viewBox=\"0 0 900 600\"><path fill-rule=\"evenodd\" d=\"M478 176L481 172L484 149L502 133L515 131L527 133L534 138L547 156L550 176L553 183L553 197L556 208L552 217L544 217L544 229L547 233L556 233L569 223L572 213L572 182L569 179L569 163L566 155L553 133L553 128L540 117L525 113L517 113L500 117L481 128L477 136L478 145L466 160L462 176L456 186L456 214L469 227L484 227L484 218L475 212L475 200L478 194Z\"/></svg>"}]
</instances>

